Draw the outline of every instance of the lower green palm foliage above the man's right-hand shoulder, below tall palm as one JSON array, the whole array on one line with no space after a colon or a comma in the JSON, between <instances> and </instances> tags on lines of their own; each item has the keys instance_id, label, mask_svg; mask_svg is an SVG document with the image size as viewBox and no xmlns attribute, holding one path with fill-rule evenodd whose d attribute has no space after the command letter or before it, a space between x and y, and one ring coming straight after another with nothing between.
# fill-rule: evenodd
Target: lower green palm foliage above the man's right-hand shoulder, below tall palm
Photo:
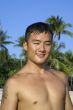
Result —
<instances>
[{"instance_id":1,"label":"lower green palm foliage above the man's right-hand shoulder, below tall palm","mask_svg":"<svg viewBox=\"0 0 73 110\"><path fill-rule=\"evenodd\" d=\"M50 68L63 71L67 75L73 75L73 54L70 51L62 53L61 48L65 48L63 43L53 42L51 56L48 59Z\"/></svg>"}]
</instances>

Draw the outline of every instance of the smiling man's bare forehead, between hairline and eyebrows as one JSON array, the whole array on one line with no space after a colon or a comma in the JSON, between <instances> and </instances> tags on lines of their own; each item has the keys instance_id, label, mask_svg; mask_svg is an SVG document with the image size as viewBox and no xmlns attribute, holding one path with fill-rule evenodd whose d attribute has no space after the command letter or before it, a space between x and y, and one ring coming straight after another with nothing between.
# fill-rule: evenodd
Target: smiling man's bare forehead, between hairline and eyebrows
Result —
<instances>
[{"instance_id":1,"label":"smiling man's bare forehead, between hairline and eyebrows","mask_svg":"<svg viewBox=\"0 0 73 110\"><path fill-rule=\"evenodd\" d=\"M29 41L30 40L52 40L52 35L50 32L43 32L43 33L31 33L30 37L29 37Z\"/></svg>"}]
</instances>

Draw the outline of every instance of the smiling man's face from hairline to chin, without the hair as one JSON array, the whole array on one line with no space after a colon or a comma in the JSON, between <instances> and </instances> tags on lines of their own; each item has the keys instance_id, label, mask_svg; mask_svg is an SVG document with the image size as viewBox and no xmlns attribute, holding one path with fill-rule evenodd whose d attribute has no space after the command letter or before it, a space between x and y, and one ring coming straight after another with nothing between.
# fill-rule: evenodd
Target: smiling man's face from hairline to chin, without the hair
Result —
<instances>
[{"instance_id":1,"label":"smiling man's face from hairline to chin, without the hair","mask_svg":"<svg viewBox=\"0 0 73 110\"><path fill-rule=\"evenodd\" d=\"M43 64L51 51L52 37L50 33L32 33L26 43L28 60Z\"/></svg>"}]
</instances>

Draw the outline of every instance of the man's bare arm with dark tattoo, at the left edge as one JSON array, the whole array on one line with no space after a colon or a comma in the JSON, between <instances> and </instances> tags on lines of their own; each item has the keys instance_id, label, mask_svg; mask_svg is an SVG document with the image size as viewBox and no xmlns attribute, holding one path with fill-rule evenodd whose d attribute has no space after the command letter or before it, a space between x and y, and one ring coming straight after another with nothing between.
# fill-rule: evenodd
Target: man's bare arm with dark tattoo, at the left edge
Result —
<instances>
[{"instance_id":1,"label":"man's bare arm with dark tattoo, at the left edge","mask_svg":"<svg viewBox=\"0 0 73 110\"><path fill-rule=\"evenodd\" d=\"M3 90L0 110L16 110L17 107L17 88L15 81L9 79Z\"/></svg>"}]
</instances>

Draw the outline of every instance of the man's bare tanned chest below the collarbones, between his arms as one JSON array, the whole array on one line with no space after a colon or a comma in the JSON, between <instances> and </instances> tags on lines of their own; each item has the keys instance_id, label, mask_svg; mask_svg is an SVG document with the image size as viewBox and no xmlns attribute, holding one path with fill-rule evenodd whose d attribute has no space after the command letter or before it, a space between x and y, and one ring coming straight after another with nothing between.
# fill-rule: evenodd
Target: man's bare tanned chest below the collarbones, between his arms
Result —
<instances>
[{"instance_id":1,"label":"man's bare tanned chest below the collarbones, between his arms","mask_svg":"<svg viewBox=\"0 0 73 110\"><path fill-rule=\"evenodd\" d=\"M64 100L65 84L58 78L28 77L21 82L19 100L58 103Z\"/></svg>"}]
</instances>

